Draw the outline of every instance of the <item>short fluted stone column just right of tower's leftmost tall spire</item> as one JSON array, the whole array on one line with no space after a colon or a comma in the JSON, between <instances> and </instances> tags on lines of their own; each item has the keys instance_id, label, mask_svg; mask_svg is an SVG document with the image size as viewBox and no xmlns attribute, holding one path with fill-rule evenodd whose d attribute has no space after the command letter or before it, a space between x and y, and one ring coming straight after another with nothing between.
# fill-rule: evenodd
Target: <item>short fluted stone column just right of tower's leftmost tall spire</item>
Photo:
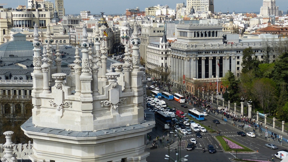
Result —
<instances>
[{"instance_id":1,"label":"short fluted stone column just right of tower's leftmost tall spire","mask_svg":"<svg viewBox=\"0 0 288 162\"><path fill-rule=\"evenodd\" d=\"M47 51L46 47L43 47L43 59L42 62L43 64L41 65L42 71L43 71L43 94L48 94L51 93L49 90L49 64L48 64L49 59L47 58Z\"/></svg>"}]
</instances>

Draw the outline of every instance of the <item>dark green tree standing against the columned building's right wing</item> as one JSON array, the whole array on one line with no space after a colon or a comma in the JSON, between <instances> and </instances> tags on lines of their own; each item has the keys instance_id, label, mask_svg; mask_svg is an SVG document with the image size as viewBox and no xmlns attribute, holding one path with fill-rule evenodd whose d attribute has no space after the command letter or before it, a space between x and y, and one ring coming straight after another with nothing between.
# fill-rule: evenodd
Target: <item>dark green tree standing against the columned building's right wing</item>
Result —
<instances>
[{"instance_id":1,"label":"dark green tree standing against the columned building's right wing","mask_svg":"<svg viewBox=\"0 0 288 162\"><path fill-rule=\"evenodd\" d=\"M256 58L252 58L255 56L255 52L253 52L252 47L245 48L243 50L243 57L242 57L242 73L247 73L251 69L253 69L253 62Z\"/></svg>"}]
</instances>

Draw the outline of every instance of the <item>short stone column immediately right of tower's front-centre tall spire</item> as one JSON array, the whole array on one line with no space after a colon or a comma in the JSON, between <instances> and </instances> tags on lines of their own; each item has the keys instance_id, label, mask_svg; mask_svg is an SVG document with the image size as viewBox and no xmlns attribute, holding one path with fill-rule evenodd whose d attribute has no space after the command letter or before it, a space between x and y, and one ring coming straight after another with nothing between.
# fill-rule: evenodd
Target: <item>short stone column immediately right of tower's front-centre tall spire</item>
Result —
<instances>
[{"instance_id":1,"label":"short stone column immediately right of tower's front-centre tall spire","mask_svg":"<svg viewBox=\"0 0 288 162\"><path fill-rule=\"evenodd\" d=\"M92 92L93 96L100 95L99 89L98 89L98 72L99 72L99 66L97 66L97 56L96 56L96 48L93 47L93 55L92 55L92 66L91 66L91 72L92 72Z\"/></svg>"}]
</instances>

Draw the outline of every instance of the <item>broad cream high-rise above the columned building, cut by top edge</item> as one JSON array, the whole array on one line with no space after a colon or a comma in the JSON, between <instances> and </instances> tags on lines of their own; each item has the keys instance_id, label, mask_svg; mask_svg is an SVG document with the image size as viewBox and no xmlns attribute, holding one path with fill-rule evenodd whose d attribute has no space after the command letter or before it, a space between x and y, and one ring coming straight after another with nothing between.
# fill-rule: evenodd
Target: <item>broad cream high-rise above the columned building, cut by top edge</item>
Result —
<instances>
[{"instance_id":1,"label":"broad cream high-rise above the columned building, cut by top edge","mask_svg":"<svg viewBox=\"0 0 288 162\"><path fill-rule=\"evenodd\" d=\"M191 8L194 8L195 12L214 12L214 0L199 1L199 0L187 0L187 11L190 12ZM187 12L187 13L189 13Z\"/></svg>"}]
</instances>

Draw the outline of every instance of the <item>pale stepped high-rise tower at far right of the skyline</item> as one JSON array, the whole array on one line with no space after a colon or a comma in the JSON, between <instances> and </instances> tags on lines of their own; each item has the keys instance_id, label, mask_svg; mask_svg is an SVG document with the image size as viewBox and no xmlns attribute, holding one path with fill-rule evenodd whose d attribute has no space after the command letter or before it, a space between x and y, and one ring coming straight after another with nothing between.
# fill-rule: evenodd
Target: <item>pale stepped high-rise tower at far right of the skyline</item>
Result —
<instances>
[{"instance_id":1,"label":"pale stepped high-rise tower at far right of the skyline","mask_svg":"<svg viewBox=\"0 0 288 162\"><path fill-rule=\"evenodd\" d=\"M279 6L276 6L276 0L263 0L263 6L260 8L260 15L279 16Z\"/></svg>"}]
</instances>

